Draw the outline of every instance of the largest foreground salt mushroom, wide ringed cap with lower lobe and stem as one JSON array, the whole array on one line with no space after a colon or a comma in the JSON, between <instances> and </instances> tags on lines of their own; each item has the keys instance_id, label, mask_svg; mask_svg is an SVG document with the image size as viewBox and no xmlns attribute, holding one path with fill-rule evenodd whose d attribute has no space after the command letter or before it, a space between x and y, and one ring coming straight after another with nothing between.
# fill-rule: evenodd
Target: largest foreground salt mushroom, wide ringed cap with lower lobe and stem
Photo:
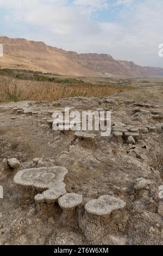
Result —
<instances>
[{"instance_id":1,"label":"largest foreground salt mushroom, wide ringed cap with lower lobe and stem","mask_svg":"<svg viewBox=\"0 0 163 256\"><path fill-rule=\"evenodd\" d=\"M53 203L66 193L64 178L68 173L64 167L42 167L24 169L14 177L21 196L30 197L38 203Z\"/></svg>"}]
</instances>

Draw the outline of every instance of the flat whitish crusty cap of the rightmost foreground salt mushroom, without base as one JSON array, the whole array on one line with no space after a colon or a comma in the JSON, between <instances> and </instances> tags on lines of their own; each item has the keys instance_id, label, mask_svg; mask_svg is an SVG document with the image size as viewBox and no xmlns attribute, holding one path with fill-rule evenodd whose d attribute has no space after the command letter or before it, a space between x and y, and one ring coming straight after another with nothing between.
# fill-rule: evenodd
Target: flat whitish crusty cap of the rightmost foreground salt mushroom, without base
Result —
<instances>
[{"instance_id":1,"label":"flat whitish crusty cap of the rightmost foreground salt mushroom, without base","mask_svg":"<svg viewBox=\"0 0 163 256\"><path fill-rule=\"evenodd\" d=\"M112 211L123 209L125 206L126 203L120 198L105 195L87 202L85 210L89 212L89 214L105 216L110 215Z\"/></svg>"}]
</instances>

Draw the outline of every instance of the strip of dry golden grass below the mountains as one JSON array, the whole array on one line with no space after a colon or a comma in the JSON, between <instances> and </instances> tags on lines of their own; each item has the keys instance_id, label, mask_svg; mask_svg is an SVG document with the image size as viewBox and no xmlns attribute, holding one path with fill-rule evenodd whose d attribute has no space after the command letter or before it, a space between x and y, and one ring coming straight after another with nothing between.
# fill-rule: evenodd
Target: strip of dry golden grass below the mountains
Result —
<instances>
[{"instance_id":1,"label":"strip of dry golden grass below the mountains","mask_svg":"<svg viewBox=\"0 0 163 256\"><path fill-rule=\"evenodd\" d=\"M51 82L16 80L0 77L0 102L22 100L59 100L65 97L103 97L130 87L114 87L93 84L56 84Z\"/></svg>"}]
</instances>

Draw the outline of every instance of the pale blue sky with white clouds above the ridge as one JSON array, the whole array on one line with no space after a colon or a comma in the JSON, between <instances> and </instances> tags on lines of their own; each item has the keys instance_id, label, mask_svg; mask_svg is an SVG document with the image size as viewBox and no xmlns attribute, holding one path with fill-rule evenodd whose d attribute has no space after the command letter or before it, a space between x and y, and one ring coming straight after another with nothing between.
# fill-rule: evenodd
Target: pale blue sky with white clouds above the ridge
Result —
<instances>
[{"instance_id":1,"label":"pale blue sky with white clouds above the ridge","mask_svg":"<svg viewBox=\"0 0 163 256\"><path fill-rule=\"evenodd\" d=\"M163 68L163 1L0 0L0 35Z\"/></svg>"}]
</instances>

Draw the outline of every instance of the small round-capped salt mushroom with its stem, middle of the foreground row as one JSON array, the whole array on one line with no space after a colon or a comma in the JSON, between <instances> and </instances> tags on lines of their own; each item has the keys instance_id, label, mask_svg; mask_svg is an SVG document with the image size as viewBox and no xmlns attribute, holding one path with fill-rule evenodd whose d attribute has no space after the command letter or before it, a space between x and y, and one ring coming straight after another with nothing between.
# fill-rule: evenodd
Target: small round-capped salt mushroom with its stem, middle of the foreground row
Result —
<instances>
[{"instance_id":1,"label":"small round-capped salt mushroom with its stem, middle of the foreground row","mask_svg":"<svg viewBox=\"0 0 163 256\"><path fill-rule=\"evenodd\" d=\"M58 203L62 209L62 223L66 225L76 224L77 208L83 203L83 196L76 193L67 193L59 198Z\"/></svg>"}]
</instances>

